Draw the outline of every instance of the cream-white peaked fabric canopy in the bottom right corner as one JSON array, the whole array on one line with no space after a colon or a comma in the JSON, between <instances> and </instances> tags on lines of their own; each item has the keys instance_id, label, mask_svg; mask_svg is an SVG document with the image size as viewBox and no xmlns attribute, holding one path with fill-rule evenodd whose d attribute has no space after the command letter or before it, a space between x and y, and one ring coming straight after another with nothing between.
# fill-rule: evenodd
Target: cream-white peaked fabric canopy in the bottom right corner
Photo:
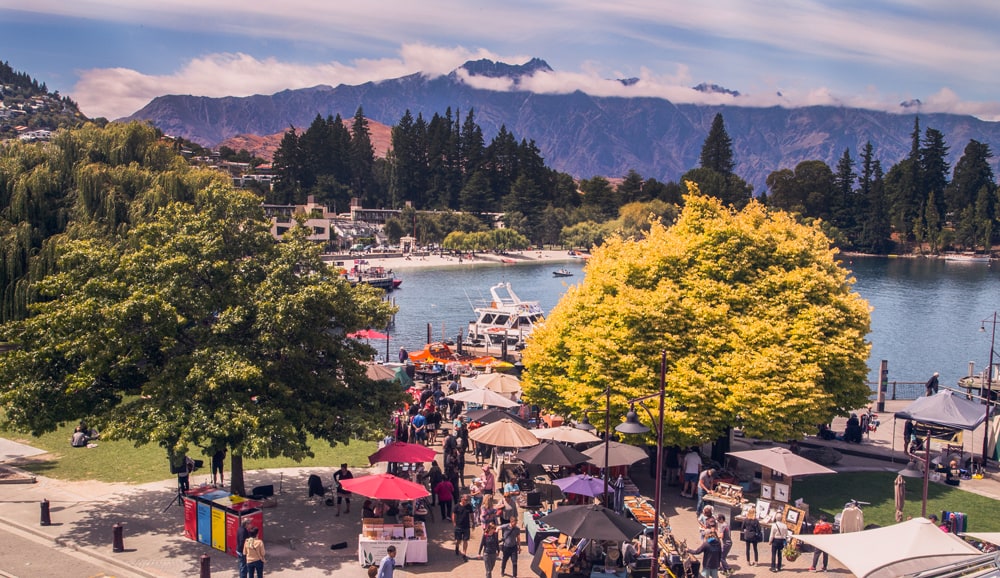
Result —
<instances>
[{"instance_id":1,"label":"cream-white peaked fabric canopy in the bottom right corner","mask_svg":"<svg viewBox=\"0 0 1000 578\"><path fill-rule=\"evenodd\" d=\"M927 518L861 532L795 538L833 556L858 578L893 578L982 554Z\"/></svg>"}]
</instances>

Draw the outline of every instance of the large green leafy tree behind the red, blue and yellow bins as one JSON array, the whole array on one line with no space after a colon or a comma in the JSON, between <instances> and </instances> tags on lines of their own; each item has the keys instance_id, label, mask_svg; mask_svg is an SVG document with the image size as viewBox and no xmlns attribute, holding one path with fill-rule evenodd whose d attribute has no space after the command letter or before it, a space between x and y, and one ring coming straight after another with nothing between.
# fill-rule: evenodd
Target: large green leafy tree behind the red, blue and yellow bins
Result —
<instances>
[{"instance_id":1,"label":"large green leafy tree behind the red, blue and yellow bins","mask_svg":"<svg viewBox=\"0 0 1000 578\"><path fill-rule=\"evenodd\" d=\"M244 457L370 438L398 401L365 376L370 348L346 337L391 307L330 273L303 228L275 242L250 193L213 185L122 238L76 231L54 251L31 315L0 326L19 346L0 356L14 427L87 418L173 460L228 448L242 493Z\"/></svg>"}]
</instances>

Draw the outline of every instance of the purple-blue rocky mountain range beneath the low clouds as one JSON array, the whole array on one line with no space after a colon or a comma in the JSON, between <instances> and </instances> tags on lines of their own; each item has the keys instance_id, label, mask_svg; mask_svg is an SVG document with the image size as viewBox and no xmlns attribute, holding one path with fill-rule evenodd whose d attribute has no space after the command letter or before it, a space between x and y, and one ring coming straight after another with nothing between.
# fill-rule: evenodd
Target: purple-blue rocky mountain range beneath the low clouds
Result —
<instances>
[{"instance_id":1,"label":"purple-blue rocky mountain range beneath the low clouds","mask_svg":"<svg viewBox=\"0 0 1000 578\"><path fill-rule=\"evenodd\" d=\"M122 120L148 120L165 133L204 146L217 146L237 135L273 135L289 127L305 128L317 114L352 117L361 107L367 118L393 126L409 110L430 119L451 108L474 112L489 142L506 126L515 138L534 141L546 163L578 178L620 177L635 170L643 177L676 181L698 166L699 154L712 119L722 113L732 139L736 173L765 188L773 171L805 160L822 160L831 168L845 149L857 159L870 141L876 158L888 168L910 151L915 109L900 104L899 113L812 106L752 108L678 104L653 97L592 96L580 91L537 94L524 90L484 90L470 86L465 76L516 80L552 70L541 59L520 65L490 60L470 61L448 75L416 73L360 85L320 85L284 90L272 95L209 98L160 96ZM635 79L622 79L628 86ZM723 87L701 84L706 92L738 95ZM967 115L920 114L921 136L926 128L940 131L950 147L954 166L970 139L1000 143L1000 123ZM997 171L996 163L993 165Z\"/></svg>"}]
</instances>

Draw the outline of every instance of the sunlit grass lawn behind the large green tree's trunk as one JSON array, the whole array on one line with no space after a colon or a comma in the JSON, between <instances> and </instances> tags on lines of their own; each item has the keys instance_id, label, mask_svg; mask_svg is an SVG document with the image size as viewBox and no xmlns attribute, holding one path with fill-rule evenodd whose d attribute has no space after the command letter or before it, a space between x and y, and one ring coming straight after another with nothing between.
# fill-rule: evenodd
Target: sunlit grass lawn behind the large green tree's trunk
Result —
<instances>
[{"instance_id":1,"label":"sunlit grass lawn behind the large green tree's trunk","mask_svg":"<svg viewBox=\"0 0 1000 578\"><path fill-rule=\"evenodd\" d=\"M62 480L99 480L102 482L127 482L143 484L173 477L167 465L163 448L153 444L135 447L128 441L99 439L96 448L74 448L69 445L75 424L33 437L28 434L0 429L0 437L26 444L50 453L19 464L32 473ZM288 458L244 460L246 470L288 467L337 467L347 462L352 467L367 467L368 456L377 447L375 442L353 441L348 445L331 448L330 444L314 440L315 457L296 462ZM196 452L191 457L204 459L211 456ZM209 471L207 468L205 471ZM226 472L229 471L227 459ZM228 477L228 476L227 476Z\"/></svg>"}]
</instances>

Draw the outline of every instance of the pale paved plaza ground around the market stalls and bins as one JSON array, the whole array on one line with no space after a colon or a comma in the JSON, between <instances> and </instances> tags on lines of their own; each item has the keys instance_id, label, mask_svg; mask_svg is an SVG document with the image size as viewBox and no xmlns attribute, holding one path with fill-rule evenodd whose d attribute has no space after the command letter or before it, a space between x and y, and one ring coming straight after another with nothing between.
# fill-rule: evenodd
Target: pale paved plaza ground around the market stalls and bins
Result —
<instances>
[{"instance_id":1,"label":"pale paved plaza ground around the market stalls and bins","mask_svg":"<svg viewBox=\"0 0 1000 578\"><path fill-rule=\"evenodd\" d=\"M907 402L889 402L887 409L898 410ZM888 418L886 416L889 416ZM842 422L841 422L842 423ZM843 442L820 442L810 438L810 444L834 447L845 453L836 466L839 471L885 470L897 471L905 465L905 456L892 449L893 424L891 413L883 414L882 426L860 446ZM834 428L840 427L835 422ZM899 424L902 427L902 423ZM842 429L842 428L841 428ZM901 434L897 430L897 440ZM966 447L976 447L975 436L966 439ZM981 440L982 438L978 438ZM804 444L805 445L805 444ZM897 446L899 442L897 441ZM5 451L0 444L0 452ZM738 440L734 451L757 447L752 441ZM889 461L894 459L895 461ZM748 467L752 467L749 466ZM355 470L357 472L357 470ZM306 479L309 474L318 474L329 480L333 468L288 468L281 470L251 471L247 473L247 486L274 484L278 505L264 511L265 544L268 550L267 575L271 577L306 576L363 576L357 561L357 536L360 530L360 504L355 504L351 515L334 516L335 509L325 506L317 498L307 497ZM479 472L473 466L467 468L467 475ZM648 468L633 468L633 479L645 495L651 495L652 480ZM1000 499L1000 474L994 472L983 480L962 483L962 488L996 499ZM208 481L207 474L193 476L192 484ZM99 576L95 569L124 578L142 577L184 577L198 576L201 557L211 557L213 576L236 576L235 559L211 548L188 540L182 535L182 509L173 503L175 480L163 480L140 486L109 484L102 482L66 482L38 476L32 484L0 484L0 536L2 532L15 532L17 539L27 541L39 548L38 563L32 563L28 545L18 557L4 555L0 558L0 575L33 578L51 576L51 566L42 564L46 560L78 560L83 556L85 563L67 567L60 575ZM41 526L40 503L49 500L52 525ZM669 516L673 533L692 546L698 540L694 515L694 501L681 498L674 487L664 487L663 512ZM112 552L112 526L124 526L125 551ZM420 575L433 578L451 576L485 575L482 562L463 562L454 554L451 524L428 523L429 562L426 565L407 566L399 575ZM474 531L470 542L470 552L479 544L479 531ZM0 541L3 539L0 538ZM331 550L330 545L346 541L348 547ZM18 542L21 544L22 542ZM747 566L743 563L743 543L735 541L730 562L736 569L736 576L754 576L766 565ZM62 558L61 556L70 556ZM57 558L57 556L59 556ZM761 561L769 559L770 550L766 545L760 548ZM801 557L787 564L786 572L806 572L811 558ZM530 557L523 549L519 561L518 575L531 576ZM847 574L842 566L831 560L832 571ZM6 574L4 574L6 572ZM499 570L496 570L499 574Z\"/></svg>"}]
</instances>

